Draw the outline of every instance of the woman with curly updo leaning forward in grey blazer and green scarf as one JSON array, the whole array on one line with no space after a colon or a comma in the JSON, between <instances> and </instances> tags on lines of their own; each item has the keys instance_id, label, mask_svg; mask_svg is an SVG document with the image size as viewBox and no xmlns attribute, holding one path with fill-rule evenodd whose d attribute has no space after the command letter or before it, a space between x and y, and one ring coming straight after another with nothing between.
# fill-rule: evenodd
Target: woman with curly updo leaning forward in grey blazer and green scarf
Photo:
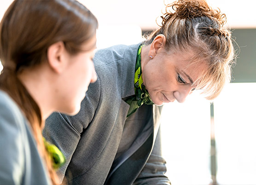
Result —
<instances>
[{"instance_id":1,"label":"woman with curly updo leaning forward in grey blazer and green scarf","mask_svg":"<svg viewBox=\"0 0 256 185\"><path fill-rule=\"evenodd\" d=\"M166 6L148 40L96 52L98 80L76 116L54 113L43 134L67 162L72 185L170 185L161 156L162 105L200 89L214 99L230 81L233 45L225 15L205 0ZM172 116L170 114L170 116Z\"/></svg>"}]
</instances>

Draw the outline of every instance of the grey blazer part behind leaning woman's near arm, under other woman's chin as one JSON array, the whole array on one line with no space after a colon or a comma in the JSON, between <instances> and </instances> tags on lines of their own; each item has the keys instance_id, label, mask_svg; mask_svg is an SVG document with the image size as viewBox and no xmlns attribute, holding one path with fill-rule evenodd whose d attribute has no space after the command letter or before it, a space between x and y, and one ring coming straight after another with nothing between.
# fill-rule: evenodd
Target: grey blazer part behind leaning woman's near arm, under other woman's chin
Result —
<instances>
[{"instance_id":1,"label":"grey blazer part behind leaning woman's near arm, under other woman's chin","mask_svg":"<svg viewBox=\"0 0 256 185\"><path fill-rule=\"evenodd\" d=\"M76 116L67 116L59 112L53 113L46 120L43 136L56 145L66 157L66 163L58 170L62 181L70 160L76 150L81 133L93 119L100 97L100 82L90 84L86 97L81 102L81 110Z\"/></svg>"}]
</instances>

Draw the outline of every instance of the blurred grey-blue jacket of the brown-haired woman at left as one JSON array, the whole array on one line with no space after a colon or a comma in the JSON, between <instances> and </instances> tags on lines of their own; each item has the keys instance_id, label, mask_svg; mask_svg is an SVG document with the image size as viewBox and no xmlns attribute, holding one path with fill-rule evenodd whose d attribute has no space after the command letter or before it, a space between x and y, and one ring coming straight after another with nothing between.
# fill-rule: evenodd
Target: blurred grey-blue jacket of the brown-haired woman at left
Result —
<instances>
[{"instance_id":1,"label":"blurred grey-blue jacket of the brown-haired woman at left","mask_svg":"<svg viewBox=\"0 0 256 185\"><path fill-rule=\"evenodd\" d=\"M0 90L0 185L50 185L28 121Z\"/></svg>"}]
</instances>

